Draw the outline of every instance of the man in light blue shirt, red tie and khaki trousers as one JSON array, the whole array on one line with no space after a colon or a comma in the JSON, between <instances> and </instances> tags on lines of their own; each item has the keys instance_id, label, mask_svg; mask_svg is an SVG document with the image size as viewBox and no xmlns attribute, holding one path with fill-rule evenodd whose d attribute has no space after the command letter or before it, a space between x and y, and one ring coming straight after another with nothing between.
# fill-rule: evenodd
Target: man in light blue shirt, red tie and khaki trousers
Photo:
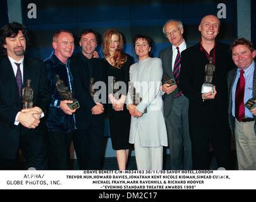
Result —
<instances>
[{"instance_id":1,"label":"man in light blue shirt, red tie and khaki trousers","mask_svg":"<svg viewBox=\"0 0 256 202\"><path fill-rule=\"evenodd\" d=\"M236 140L238 169L256 170L256 107L245 107L249 98L256 99L256 52L244 38L234 40L231 50L237 68L228 73L229 126Z\"/></svg>"}]
</instances>

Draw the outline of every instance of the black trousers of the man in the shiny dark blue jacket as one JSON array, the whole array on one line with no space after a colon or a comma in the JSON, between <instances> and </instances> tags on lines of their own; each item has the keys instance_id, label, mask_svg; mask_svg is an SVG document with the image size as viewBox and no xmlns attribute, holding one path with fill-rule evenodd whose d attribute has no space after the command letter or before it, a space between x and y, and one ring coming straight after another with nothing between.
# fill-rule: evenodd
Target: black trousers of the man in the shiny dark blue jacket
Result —
<instances>
[{"instance_id":1,"label":"black trousers of the man in the shiny dark blue jacket","mask_svg":"<svg viewBox=\"0 0 256 202\"><path fill-rule=\"evenodd\" d=\"M50 170L69 170L70 146L74 132L49 131L48 163Z\"/></svg>"}]
</instances>

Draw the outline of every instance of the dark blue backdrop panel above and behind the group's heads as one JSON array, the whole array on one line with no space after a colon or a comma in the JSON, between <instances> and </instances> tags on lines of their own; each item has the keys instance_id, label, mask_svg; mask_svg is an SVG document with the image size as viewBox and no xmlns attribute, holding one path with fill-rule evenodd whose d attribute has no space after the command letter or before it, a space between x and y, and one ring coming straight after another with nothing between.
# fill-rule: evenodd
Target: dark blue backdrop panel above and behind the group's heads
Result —
<instances>
[{"instance_id":1,"label":"dark blue backdrop panel above and behind the group's heads","mask_svg":"<svg viewBox=\"0 0 256 202\"><path fill-rule=\"evenodd\" d=\"M116 28L126 39L125 52L137 61L132 47L132 37L145 33L155 42L153 56L169 45L162 33L162 26L169 19L183 21L185 39L196 44L199 40L198 23L202 16L217 15L217 4L226 5L226 18L221 19L219 40L230 44L236 38L236 1L233 0L34 0L37 18L29 19L29 0L21 0L23 23L30 32L30 55L46 59L52 51L52 33L59 29L71 30L76 36L83 29L92 28L101 35L108 28ZM76 47L76 51L79 47ZM101 56L101 47L98 48Z\"/></svg>"}]
</instances>

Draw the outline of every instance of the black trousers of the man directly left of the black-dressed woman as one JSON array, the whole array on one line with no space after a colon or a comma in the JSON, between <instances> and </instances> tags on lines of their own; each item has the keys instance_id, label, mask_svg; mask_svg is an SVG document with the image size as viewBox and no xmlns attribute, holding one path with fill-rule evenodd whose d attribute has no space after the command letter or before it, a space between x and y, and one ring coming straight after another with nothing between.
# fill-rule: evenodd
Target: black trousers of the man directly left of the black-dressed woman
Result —
<instances>
[{"instance_id":1,"label":"black trousers of the man directly left of the black-dressed woman","mask_svg":"<svg viewBox=\"0 0 256 202\"><path fill-rule=\"evenodd\" d=\"M91 126L76 130L73 143L81 170L100 170L104 127Z\"/></svg>"}]
</instances>

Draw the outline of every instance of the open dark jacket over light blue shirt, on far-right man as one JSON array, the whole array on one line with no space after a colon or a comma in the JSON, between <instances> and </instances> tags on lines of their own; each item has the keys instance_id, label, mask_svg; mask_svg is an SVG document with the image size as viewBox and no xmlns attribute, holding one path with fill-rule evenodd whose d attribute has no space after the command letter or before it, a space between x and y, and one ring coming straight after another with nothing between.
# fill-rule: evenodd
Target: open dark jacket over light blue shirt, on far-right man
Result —
<instances>
[{"instance_id":1,"label":"open dark jacket over light blue shirt, on far-right man","mask_svg":"<svg viewBox=\"0 0 256 202\"><path fill-rule=\"evenodd\" d=\"M255 69L256 69L256 65L255 65ZM254 69L254 73L253 73L253 97L256 97L256 71ZM232 115L232 88L235 82L235 78L236 78L236 70L232 69L231 71L228 72L228 98L229 98L229 102L228 102L228 121L229 121L229 126L231 129L231 132L233 134L233 137L235 138L235 117L233 117ZM256 121L256 117L253 116L255 121ZM256 134L256 124L254 124L254 131Z\"/></svg>"}]
</instances>

